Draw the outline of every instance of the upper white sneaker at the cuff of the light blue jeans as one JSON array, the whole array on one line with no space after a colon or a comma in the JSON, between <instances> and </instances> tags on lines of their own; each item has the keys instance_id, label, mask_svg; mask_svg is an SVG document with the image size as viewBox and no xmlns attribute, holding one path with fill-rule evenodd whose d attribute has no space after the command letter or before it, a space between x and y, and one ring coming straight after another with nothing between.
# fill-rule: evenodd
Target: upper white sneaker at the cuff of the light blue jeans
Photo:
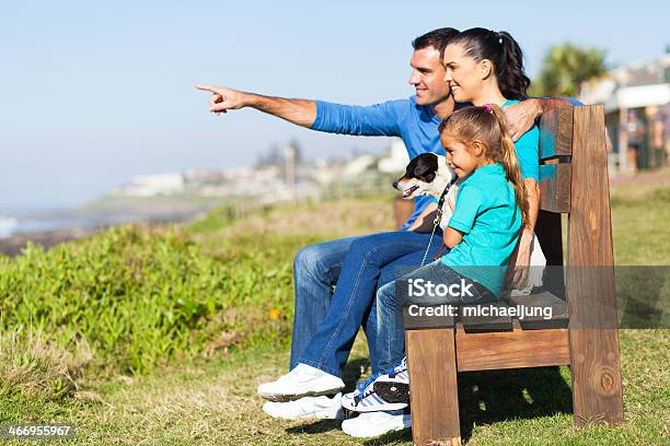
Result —
<instances>
[{"instance_id":1,"label":"upper white sneaker at the cuff of the light blue jeans","mask_svg":"<svg viewBox=\"0 0 670 446\"><path fill-rule=\"evenodd\" d=\"M259 385L258 396L270 401L292 401L302 397L334 395L343 388L344 382L337 376L311 365L298 364L279 379Z\"/></svg>"}]
</instances>

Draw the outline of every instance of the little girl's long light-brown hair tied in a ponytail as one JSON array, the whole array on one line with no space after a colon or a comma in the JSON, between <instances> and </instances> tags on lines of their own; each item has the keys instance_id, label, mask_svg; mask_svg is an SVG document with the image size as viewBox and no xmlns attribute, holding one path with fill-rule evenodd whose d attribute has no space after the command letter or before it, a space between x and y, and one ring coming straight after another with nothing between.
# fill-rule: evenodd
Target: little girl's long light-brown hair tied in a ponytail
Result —
<instances>
[{"instance_id":1,"label":"little girl's long light-brown hair tied in a ponytail","mask_svg":"<svg viewBox=\"0 0 670 446\"><path fill-rule=\"evenodd\" d=\"M521 177L519 159L515 143L509 138L507 118L497 105L483 107L465 107L452 113L442 122L439 131L449 132L459 142L470 145L478 140L486 148L485 156L505 168L507 180L515 188L517 206L521 210L521 221L528 222L528 202L525 200L525 186Z\"/></svg>"}]
</instances>

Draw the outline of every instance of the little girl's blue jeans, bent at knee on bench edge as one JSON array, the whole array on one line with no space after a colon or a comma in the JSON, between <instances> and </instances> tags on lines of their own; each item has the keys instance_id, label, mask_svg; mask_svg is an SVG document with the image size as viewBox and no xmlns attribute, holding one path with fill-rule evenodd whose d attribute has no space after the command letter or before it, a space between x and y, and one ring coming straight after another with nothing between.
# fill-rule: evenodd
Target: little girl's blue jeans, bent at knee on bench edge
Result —
<instances>
[{"instance_id":1,"label":"little girl's blue jeans, bent at knee on bench edge","mask_svg":"<svg viewBox=\"0 0 670 446\"><path fill-rule=\"evenodd\" d=\"M409 279L424 279L435 284L444 283L473 283L470 279L460 275L451 268L443 265L440 260L428 263L412 272L404 270L396 282L386 283L377 292L377 353L379 354L379 367L384 369L398 365L405 356L405 330L403 327L403 306L408 304L461 304L477 303L483 300L480 292L472 286L472 296L465 301L462 297L430 296L423 297L408 296L407 281ZM485 296L484 298L488 298Z\"/></svg>"}]
</instances>

